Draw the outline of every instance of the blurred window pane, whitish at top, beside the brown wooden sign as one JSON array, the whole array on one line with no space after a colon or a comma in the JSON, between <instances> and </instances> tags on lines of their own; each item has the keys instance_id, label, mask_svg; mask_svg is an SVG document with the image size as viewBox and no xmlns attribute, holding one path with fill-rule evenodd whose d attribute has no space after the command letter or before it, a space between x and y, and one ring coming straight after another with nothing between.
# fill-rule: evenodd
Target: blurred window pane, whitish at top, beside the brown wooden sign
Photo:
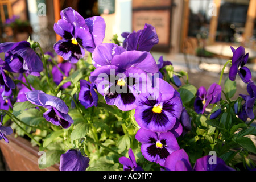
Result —
<instances>
[{"instance_id":1,"label":"blurred window pane, whitish at top, beside the brown wooden sign","mask_svg":"<svg viewBox=\"0 0 256 182\"><path fill-rule=\"evenodd\" d=\"M188 36L207 38L209 33L210 19L212 18L211 3L213 0L190 0L189 1L189 27Z\"/></svg>"}]
</instances>

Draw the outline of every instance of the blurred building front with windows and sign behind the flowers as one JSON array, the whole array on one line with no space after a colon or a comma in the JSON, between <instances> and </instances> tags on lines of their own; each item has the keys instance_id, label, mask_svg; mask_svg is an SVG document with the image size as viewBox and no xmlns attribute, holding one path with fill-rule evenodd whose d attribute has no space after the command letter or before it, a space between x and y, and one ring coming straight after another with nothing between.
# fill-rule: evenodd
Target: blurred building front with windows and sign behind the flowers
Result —
<instances>
[{"instance_id":1,"label":"blurred building front with windows and sign behind the flowers","mask_svg":"<svg viewBox=\"0 0 256 182\"><path fill-rule=\"evenodd\" d=\"M105 19L104 42L114 34L122 41L122 32L152 24L159 36L152 55L156 61L163 55L176 70L220 73L232 57L230 46L244 46L249 52L247 65L256 77L256 0L0 0L0 42L30 36L44 51L54 52L60 37L53 24L69 6L85 19Z\"/></svg>"}]
</instances>

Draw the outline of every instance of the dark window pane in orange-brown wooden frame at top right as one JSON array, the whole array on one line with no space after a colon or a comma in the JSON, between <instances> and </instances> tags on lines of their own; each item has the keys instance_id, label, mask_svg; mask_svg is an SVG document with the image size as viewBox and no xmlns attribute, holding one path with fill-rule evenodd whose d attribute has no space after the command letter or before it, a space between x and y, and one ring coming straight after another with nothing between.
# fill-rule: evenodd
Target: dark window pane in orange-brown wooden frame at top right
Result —
<instances>
[{"instance_id":1,"label":"dark window pane in orange-brown wooden frame at top right","mask_svg":"<svg viewBox=\"0 0 256 182\"><path fill-rule=\"evenodd\" d=\"M216 41L242 42L250 0L222 0Z\"/></svg>"}]
</instances>

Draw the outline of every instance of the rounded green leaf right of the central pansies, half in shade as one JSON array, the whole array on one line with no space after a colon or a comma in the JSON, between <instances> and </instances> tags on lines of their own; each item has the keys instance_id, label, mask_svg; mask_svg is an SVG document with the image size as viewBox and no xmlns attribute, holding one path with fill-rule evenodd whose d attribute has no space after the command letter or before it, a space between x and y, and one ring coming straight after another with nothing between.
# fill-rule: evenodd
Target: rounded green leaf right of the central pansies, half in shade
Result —
<instances>
[{"instance_id":1,"label":"rounded green leaf right of the central pansies, half in shade","mask_svg":"<svg viewBox=\"0 0 256 182\"><path fill-rule=\"evenodd\" d=\"M195 97L196 91L196 87L191 84L183 85L178 89L181 100L184 102L184 104L188 103Z\"/></svg>"}]
</instances>

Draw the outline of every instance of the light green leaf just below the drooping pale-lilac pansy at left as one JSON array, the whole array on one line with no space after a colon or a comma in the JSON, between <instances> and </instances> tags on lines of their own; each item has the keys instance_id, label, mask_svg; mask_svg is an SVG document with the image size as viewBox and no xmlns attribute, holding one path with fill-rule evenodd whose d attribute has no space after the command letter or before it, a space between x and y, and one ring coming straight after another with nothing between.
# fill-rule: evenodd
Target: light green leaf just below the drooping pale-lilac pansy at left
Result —
<instances>
[{"instance_id":1,"label":"light green leaf just below the drooping pale-lilac pansy at left","mask_svg":"<svg viewBox=\"0 0 256 182\"><path fill-rule=\"evenodd\" d=\"M71 141L85 137L89 131L89 126L86 123L78 123L74 126L75 129L71 133Z\"/></svg>"}]
</instances>

